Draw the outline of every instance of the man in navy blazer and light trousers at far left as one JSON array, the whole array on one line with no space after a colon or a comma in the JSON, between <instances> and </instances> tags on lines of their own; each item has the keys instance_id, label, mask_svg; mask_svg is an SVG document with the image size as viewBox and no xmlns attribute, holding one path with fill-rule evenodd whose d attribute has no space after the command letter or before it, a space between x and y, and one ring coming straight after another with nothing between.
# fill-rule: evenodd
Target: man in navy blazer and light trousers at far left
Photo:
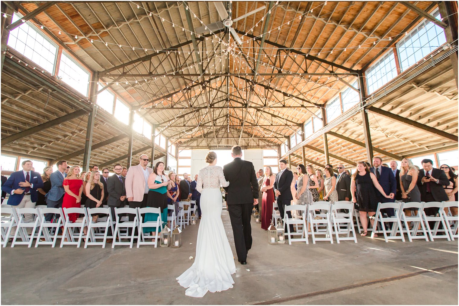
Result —
<instances>
[{"instance_id":1,"label":"man in navy blazer and light trousers at far left","mask_svg":"<svg viewBox=\"0 0 459 306\"><path fill-rule=\"evenodd\" d=\"M38 172L32 171L32 161L24 160L22 170L11 173L1 189L10 194L8 205L16 208L35 208L37 189L43 188L43 180ZM26 222L33 222L34 215L24 214Z\"/></svg>"}]
</instances>

